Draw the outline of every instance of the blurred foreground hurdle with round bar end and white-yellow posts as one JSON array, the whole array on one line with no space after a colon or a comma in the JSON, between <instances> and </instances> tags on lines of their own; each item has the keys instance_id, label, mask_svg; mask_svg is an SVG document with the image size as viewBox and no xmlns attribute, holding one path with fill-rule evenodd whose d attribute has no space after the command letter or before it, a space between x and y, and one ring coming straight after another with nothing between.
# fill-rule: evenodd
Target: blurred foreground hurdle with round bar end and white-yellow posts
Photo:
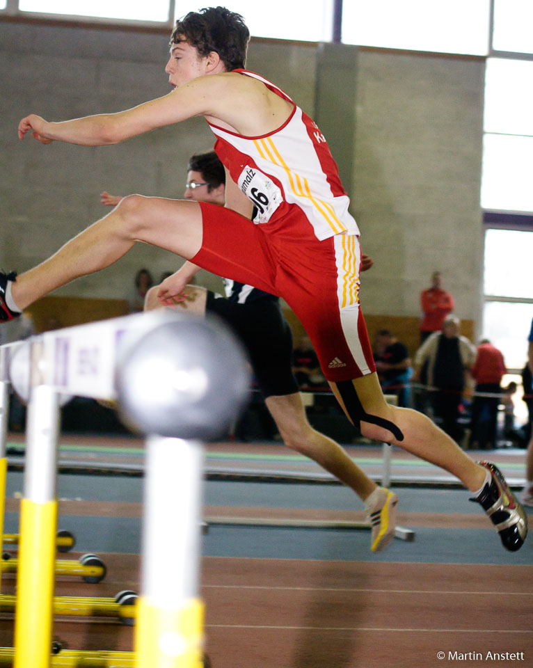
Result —
<instances>
[{"instance_id":1,"label":"blurred foreground hurdle with round bar end and white-yellow posts","mask_svg":"<svg viewBox=\"0 0 533 668\"><path fill-rule=\"evenodd\" d=\"M29 378L13 665L51 665L58 408L77 395L118 398L127 423L150 435L138 668L200 668L199 439L218 436L239 412L244 354L219 324L169 310L47 332L27 345L10 363L12 381Z\"/></svg>"}]
</instances>

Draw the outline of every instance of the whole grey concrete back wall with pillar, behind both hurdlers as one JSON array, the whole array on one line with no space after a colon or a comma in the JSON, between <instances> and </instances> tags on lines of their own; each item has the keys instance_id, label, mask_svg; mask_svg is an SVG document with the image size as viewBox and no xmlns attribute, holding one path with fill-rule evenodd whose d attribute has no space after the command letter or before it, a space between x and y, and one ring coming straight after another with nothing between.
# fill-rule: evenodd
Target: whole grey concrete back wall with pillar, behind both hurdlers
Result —
<instances>
[{"instance_id":1,"label":"whole grey concrete back wall with pillar, behind both hurdlers","mask_svg":"<svg viewBox=\"0 0 533 668\"><path fill-rule=\"evenodd\" d=\"M248 67L327 125L375 260L364 309L418 315L420 290L440 269L459 316L477 318L484 61L338 47L335 71L335 48L256 40ZM0 22L0 267L24 271L101 217L104 189L181 196L186 159L213 144L202 120L108 148L43 147L16 136L28 113L63 120L164 95L166 54L162 33ZM140 267L158 278L178 265L138 244L114 267L58 292L124 297ZM219 286L207 274L202 282Z\"/></svg>"}]
</instances>

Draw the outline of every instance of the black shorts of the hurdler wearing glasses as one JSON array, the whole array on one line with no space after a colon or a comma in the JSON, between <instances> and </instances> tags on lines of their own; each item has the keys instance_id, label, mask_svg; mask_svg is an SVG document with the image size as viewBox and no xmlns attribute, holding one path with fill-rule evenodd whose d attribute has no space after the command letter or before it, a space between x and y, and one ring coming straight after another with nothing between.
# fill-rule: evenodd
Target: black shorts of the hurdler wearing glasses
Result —
<instances>
[{"instance_id":1,"label":"black shorts of the hurdler wearing glasses","mask_svg":"<svg viewBox=\"0 0 533 668\"><path fill-rule=\"evenodd\" d=\"M244 343L265 399L299 391L292 374L292 331L277 300L239 304L208 290L206 310L221 317Z\"/></svg>"}]
</instances>

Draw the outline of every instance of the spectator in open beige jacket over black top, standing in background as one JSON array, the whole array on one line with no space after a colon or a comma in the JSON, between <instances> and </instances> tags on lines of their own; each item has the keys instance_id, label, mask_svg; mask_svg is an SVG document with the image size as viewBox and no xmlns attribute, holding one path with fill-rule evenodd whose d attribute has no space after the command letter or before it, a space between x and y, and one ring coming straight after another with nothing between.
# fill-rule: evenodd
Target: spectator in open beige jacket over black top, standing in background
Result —
<instances>
[{"instance_id":1,"label":"spectator in open beige jacket over black top, standing in background","mask_svg":"<svg viewBox=\"0 0 533 668\"><path fill-rule=\"evenodd\" d=\"M424 341L415 356L413 380L420 378L420 369L427 363L433 413L456 442L463 436L459 406L467 385L468 370L474 365L475 358L475 347L465 336L459 335L459 319L453 315L445 319L442 332L435 332Z\"/></svg>"}]
</instances>

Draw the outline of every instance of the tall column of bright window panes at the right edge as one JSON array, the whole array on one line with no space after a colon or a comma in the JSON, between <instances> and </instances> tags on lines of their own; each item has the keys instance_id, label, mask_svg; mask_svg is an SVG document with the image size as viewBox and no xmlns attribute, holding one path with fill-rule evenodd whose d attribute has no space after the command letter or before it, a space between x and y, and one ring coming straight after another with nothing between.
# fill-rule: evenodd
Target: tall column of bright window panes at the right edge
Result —
<instances>
[{"instance_id":1,"label":"tall column of bright window panes at the right edge","mask_svg":"<svg viewBox=\"0 0 533 668\"><path fill-rule=\"evenodd\" d=\"M483 334L522 369L533 318L533 3L493 0L486 63L481 203ZM496 57L497 56L497 57Z\"/></svg>"}]
</instances>

